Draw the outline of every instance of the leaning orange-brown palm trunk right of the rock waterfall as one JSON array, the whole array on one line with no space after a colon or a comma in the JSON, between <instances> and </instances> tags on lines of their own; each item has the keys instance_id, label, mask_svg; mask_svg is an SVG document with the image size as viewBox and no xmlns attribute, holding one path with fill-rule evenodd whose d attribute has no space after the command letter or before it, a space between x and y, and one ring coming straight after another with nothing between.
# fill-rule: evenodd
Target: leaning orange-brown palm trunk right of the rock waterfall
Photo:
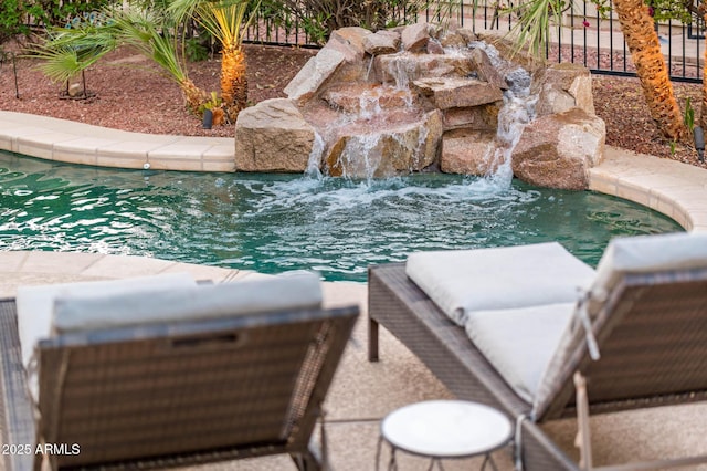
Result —
<instances>
[{"instance_id":1,"label":"leaning orange-brown palm trunk right of the rock waterfall","mask_svg":"<svg viewBox=\"0 0 707 471\"><path fill-rule=\"evenodd\" d=\"M668 138L687 135L680 108L673 93L653 17L643 0L615 0L614 11L636 66L651 117Z\"/></svg>"}]
</instances>

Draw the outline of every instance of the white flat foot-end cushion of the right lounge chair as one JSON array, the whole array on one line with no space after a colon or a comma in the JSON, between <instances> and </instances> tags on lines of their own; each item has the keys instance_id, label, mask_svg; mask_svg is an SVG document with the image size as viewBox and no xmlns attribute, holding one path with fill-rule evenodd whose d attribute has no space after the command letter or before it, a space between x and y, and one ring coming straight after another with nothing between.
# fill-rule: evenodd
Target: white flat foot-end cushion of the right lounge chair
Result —
<instances>
[{"instance_id":1,"label":"white flat foot-end cushion of the right lounge chair","mask_svg":"<svg viewBox=\"0 0 707 471\"><path fill-rule=\"evenodd\" d=\"M572 303L594 270L557 242L418 252L408 276L460 325L475 311Z\"/></svg>"}]
</instances>

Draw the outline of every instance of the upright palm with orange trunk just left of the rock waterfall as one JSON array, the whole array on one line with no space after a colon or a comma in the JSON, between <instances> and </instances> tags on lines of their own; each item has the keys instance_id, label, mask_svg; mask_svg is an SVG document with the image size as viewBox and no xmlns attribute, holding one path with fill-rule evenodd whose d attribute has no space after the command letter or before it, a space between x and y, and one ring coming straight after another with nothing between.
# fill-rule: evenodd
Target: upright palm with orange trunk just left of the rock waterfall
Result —
<instances>
[{"instance_id":1,"label":"upright palm with orange trunk just left of the rock waterfall","mask_svg":"<svg viewBox=\"0 0 707 471\"><path fill-rule=\"evenodd\" d=\"M247 77L243 36L250 12L257 4L249 0L175 0L169 10L184 20L193 18L221 44L221 100L225 114L235 123L241 109L247 106Z\"/></svg>"}]
</instances>

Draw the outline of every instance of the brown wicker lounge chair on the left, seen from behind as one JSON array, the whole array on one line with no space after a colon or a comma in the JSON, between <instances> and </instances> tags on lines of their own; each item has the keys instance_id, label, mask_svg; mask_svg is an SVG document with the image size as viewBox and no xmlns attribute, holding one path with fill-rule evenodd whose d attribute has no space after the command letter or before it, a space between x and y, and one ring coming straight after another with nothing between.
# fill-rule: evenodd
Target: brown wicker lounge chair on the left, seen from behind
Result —
<instances>
[{"instance_id":1,"label":"brown wicker lounge chair on the left, seen from behind","mask_svg":"<svg viewBox=\"0 0 707 471\"><path fill-rule=\"evenodd\" d=\"M277 453L300 470L320 469L326 457L310 438L358 307L324 310L320 297L283 307L289 296L278 279L57 297L54 315L61 305L67 312L32 354L38 402L28 393L18 303L0 301L6 469L38 469L43 458L52 469L110 469ZM239 301L253 292L281 306ZM148 296L148 307L131 311ZM201 304L211 313L194 318ZM145 322L146 310L165 305L181 318L170 320L168 306ZM102 306L106 316L94 316L102 325L78 322ZM127 321L115 316L120 310Z\"/></svg>"}]
</instances>

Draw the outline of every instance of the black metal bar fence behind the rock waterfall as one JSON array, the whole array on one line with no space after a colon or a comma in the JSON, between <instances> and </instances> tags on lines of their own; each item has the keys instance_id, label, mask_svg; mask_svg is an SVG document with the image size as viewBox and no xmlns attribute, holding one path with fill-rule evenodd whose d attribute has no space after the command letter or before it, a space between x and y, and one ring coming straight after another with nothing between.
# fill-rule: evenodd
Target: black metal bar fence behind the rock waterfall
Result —
<instances>
[{"instance_id":1,"label":"black metal bar fence behind the rock waterfall","mask_svg":"<svg viewBox=\"0 0 707 471\"><path fill-rule=\"evenodd\" d=\"M473 7L471 0L453 0L454 14L451 25L464 27L474 32L510 31L514 14L504 13L497 1L481 0ZM423 12L398 11L395 20L411 23L435 22L430 9ZM619 21L614 15L602 19L589 1L572 2L564 12L562 23L552 28L552 42L547 57L557 62L579 63L593 73L635 76L635 65L624 42ZM671 71L671 78L680 82L701 82L704 67L704 24L694 19L692 24L680 22L656 23L658 39ZM246 41L266 44L318 46L302 20L288 18L282 12L274 19L264 12L256 17L247 30Z\"/></svg>"}]
</instances>

